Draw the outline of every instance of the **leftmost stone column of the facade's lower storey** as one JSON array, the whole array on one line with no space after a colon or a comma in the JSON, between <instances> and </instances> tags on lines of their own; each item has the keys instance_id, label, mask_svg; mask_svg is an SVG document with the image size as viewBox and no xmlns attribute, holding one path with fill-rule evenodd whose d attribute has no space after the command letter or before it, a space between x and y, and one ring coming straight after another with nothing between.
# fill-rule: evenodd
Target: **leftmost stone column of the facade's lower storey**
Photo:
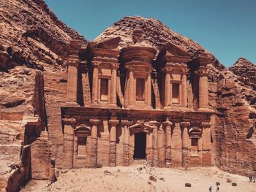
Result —
<instances>
[{"instance_id":1,"label":"leftmost stone column of the facade's lower storey","mask_svg":"<svg viewBox=\"0 0 256 192\"><path fill-rule=\"evenodd\" d=\"M73 167L73 154L74 154L74 128L75 119L64 118L64 150L63 150L63 167Z\"/></svg>"}]
</instances>

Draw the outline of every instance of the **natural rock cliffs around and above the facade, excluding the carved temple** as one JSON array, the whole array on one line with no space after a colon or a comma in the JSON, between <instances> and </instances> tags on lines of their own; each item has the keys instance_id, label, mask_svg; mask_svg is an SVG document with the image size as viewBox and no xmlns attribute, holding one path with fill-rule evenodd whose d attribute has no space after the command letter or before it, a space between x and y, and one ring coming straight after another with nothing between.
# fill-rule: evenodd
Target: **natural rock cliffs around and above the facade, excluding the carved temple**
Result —
<instances>
[{"instance_id":1,"label":"natural rock cliffs around and above the facade, excluding the carved temple","mask_svg":"<svg viewBox=\"0 0 256 192\"><path fill-rule=\"evenodd\" d=\"M78 40L85 50L87 42L61 23L42 0L1 1L0 10L0 189L16 191L31 177L52 177L50 159L62 160L67 45ZM136 25L142 26L146 45L157 53L160 45L171 42L191 57L204 53L211 58L207 66L208 104L215 111L211 118L211 163L227 172L255 174L255 64L239 58L227 69L199 44L153 18L125 17L103 31L92 45L118 36L121 50L133 44ZM100 43L97 46L104 48ZM89 85L80 86L85 88L84 95L90 96ZM154 85L156 93L158 89ZM88 104L89 97L83 102Z\"/></svg>"}]
</instances>

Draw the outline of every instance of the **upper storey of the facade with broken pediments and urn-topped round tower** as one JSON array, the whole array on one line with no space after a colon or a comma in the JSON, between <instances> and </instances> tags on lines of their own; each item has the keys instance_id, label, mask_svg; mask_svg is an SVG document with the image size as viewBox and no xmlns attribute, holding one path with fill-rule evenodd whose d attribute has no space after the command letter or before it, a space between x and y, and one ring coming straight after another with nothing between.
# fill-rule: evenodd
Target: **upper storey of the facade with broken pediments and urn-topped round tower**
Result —
<instances>
[{"instance_id":1,"label":"upper storey of the facade with broken pediments and urn-topped round tower","mask_svg":"<svg viewBox=\"0 0 256 192\"><path fill-rule=\"evenodd\" d=\"M121 37L91 42L86 49L71 42L68 100L81 107L208 111L211 59L189 55L170 42L155 50L144 37L135 26L134 45L121 50Z\"/></svg>"}]
</instances>

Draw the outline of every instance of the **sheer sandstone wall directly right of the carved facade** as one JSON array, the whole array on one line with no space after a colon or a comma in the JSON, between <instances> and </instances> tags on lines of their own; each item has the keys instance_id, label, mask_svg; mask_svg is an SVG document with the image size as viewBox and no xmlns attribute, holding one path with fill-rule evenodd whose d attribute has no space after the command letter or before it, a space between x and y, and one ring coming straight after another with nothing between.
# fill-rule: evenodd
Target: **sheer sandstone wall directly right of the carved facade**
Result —
<instances>
[{"instance_id":1,"label":"sheer sandstone wall directly right of the carved facade","mask_svg":"<svg viewBox=\"0 0 256 192\"><path fill-rule=\"evenodd\" d=\"M225 72L218 82L217 107L212 134L216 164L235 174L255 174L255 112L244 97L246 89L237 76ZM252 91L252 90L250 90Z\"/></svg>"}]
</instances>

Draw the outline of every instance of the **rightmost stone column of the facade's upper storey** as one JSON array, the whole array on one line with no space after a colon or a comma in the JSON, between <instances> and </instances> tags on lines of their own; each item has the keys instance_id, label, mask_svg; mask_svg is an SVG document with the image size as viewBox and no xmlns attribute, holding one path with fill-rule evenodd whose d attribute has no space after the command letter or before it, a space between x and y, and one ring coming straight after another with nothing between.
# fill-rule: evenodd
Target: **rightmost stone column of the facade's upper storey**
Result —
<instances>
[{"instance_id":1,"label":"rightmost stone column of the facade's upper storey","mask_svg":"<svg viewBox=\"0 0 256 192\"><path fill-rule=\"evenodd\" d=\"M205 66L200 66L197 74L199 75L199 110L208 109L208 73Z\"/></svg>"}]
</instances>

